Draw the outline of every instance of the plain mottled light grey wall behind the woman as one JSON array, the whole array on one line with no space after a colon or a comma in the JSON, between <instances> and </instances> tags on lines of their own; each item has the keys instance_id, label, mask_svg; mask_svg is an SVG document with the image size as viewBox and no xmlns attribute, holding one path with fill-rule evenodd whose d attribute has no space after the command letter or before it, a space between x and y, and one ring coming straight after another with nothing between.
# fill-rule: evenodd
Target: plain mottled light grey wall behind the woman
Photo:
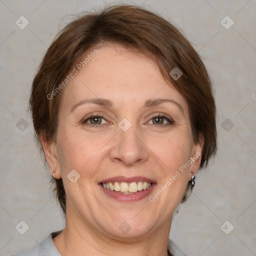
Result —
<instances>
[{"instance_id":1,"label":"plain mottled light grey wall behind the woman","mask_svg":"<svg viewBox=\"0 0 256 256\"><path fill-rule=\"evenodd\" d=\"M121 2L145 2L171 19L204 58L215 84L218 153L196 176L170 238L191 256L256 255L256 0ZM26 109L43 54L72 18L63 17L102 5L102 0L0 0L0 255L28 249L64 227ZM21 15L29 21L23 30L15 24ZM220 23L226 15L234 21L229 29ZM16 126L21 118L28 123L23 131L23 120ZM29 225L23 235L15 229L21 220ZM226 220L234 226L229 234L220 228Z\"/></svg>"}]
</instances>

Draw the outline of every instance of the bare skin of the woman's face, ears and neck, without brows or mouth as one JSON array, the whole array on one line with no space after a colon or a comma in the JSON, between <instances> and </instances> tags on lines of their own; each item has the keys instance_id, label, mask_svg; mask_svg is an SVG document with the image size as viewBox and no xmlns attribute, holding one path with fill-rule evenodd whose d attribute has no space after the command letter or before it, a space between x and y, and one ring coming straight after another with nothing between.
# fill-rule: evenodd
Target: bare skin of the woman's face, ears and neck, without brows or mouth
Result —
<instances>
[{"instance_id":1,"label":"bare skin of the woman's face, ears and neck, without brows or mouth","mask_svg":"<svg viewBox=\"0 0 256 256\"><path fill-rule=\"evenodd\" d=\"M55 178L62 177L66 191L66 226L53 238L65 255L167 255L172 214L186 185L199 168L200 157L157 198L119 202L108 197L98 182L113 176L145 176L156 181L153 195L183 163L201 152L203 139L192 139L188 105L168 84L156 64L142 53L118 44L105 44L62 89L55 142L41 141ZM88 98L106 98L112 107L73 105ZM169 98L157 106L142 107L148 99ZM91 113L104 115L96 119ZM174 120L152 118L165 114ZM85 118L86 117L86 118ZM118 123L126 118L131 127ZM87 124L87 125L86 125ZM94 125L94 126L92 126ZM75 169L80 178L72 183L67 174ZM118 226L131 227L122 233Z\"/></svg>"}]
</instances>

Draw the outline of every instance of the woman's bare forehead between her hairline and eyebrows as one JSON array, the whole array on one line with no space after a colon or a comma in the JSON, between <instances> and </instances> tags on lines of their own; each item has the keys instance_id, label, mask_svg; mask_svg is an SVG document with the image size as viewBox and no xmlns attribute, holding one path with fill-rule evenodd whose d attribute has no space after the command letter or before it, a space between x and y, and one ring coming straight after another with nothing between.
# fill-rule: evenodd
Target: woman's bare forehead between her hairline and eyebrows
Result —
<instances>
[{"instance_id":1,"label":"woman's bare forehead between her hairline and eyebrows","mask_svg":"<svg viewBox=\"0 0 256 256\"><path fill-rule=\"evenodd\" d=\"M84 59L86 57L84 67L63 91L64 105L104 97L121 107L125 103L141 105L147 99L170 97L187 108L183 96L165 81L156 63L145 54L132 52L118 44L107 44L99 47L93 57L87 52Z\"/></svg>"}]
</instances>

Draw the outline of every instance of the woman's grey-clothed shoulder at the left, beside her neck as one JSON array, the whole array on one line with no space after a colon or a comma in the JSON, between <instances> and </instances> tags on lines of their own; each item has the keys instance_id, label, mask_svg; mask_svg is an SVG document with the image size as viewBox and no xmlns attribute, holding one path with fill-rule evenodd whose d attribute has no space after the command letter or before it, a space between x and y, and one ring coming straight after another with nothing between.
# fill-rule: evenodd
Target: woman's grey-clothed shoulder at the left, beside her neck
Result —
<instances>
[{"instance_id":1,"label":"woman's grey-clothed shoulder at the left, beside her neck","mask_svg":"<svg viewBox=\"0 0 256 256\"><path fill-rule=\"evenodd\" d=\"M52 237L60 233L62 230L50 233L42 242L35 245L29 250L15 253L11 256L61 256L52 241Z\"/></svg>"}]
</instances>

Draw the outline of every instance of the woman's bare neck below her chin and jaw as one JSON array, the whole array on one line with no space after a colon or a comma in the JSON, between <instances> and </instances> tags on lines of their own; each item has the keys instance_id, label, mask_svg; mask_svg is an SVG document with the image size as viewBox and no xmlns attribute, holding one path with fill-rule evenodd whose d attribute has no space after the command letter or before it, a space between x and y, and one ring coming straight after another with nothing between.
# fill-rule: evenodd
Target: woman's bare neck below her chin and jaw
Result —
<instances>
[{"instance_id":1,"label":"woman's bare neck below her chin and jaw","mask_svg":"<svg viewBox=\"0 0 256 256\"><path fill-rule=\"evenodd\" d=\"M81 219L69 219L66 215L66 226L62 232L53 237L53 242L61 256L167 256L168 235L171 219L157 229L149 230L143 236L117 237L96 230Z\"/></svg>"}]
</instances>

